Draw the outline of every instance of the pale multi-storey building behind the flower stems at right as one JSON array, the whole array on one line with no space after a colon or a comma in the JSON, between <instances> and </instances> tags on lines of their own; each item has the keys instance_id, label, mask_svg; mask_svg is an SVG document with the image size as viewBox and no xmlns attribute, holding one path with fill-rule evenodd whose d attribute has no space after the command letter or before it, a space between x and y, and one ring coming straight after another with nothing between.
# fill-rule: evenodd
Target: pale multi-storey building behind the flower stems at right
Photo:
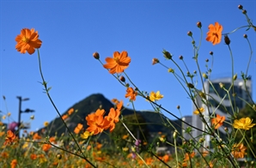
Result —
<instances>
[{"instance_id":1,"label":"pale multi-storey building behind the flower stems at right","mask_svg":"<svg viewBox=\"0 0 256 168\"><path fill-rule=\"evenodd\" d=\"M232 107L231 103L229 101L229 96L226 95L226 91L220 87L220 83L226 88L229 89L229 87L232 84L231 78L219 78L216 80L211 81L212 85L210 85L209 81L204 82L204 88L206 93L206 99L208 99L208 102L210 102L209 108L202 102L201 98L196 98L196 102L198 107L204 107L204 118L205 120L210 124L210 115L212 114L219 114L220 116L225 116L225 121L230 123L230 114L232 115ZM213 86L213 87L212 87ZM247 80L246 86L242 79L236 79L234 81L234 90L236 93L235 99L232 96L232 89L229 91L230 98L232 99L232 104L241 110L246 106L246 102L242 101L241 99L246 100L247 102L250 102L249 95L252 96L252 81L251 79ZM204 92L204 90L202 91ZM239 97L241 99L239 99ZM209 109L209 111L208 111ZM196 106L193 105L193 110L196 110ZM199 115L192 114L192 125L198 129L205 130L205 124L202 122ZM225 139L226 132L224 131L224 127L230 128L230 125L228 123L223 123L222 128L218 129L220 132L220 136L222 139ZM192 129L192 136L198 137L199 135L202 135L202 132L197 129ZM231 130L231 129L229 129ZM204 136L204 147L210 147L210 136L206 135Z\"/></svg>"}]
</instances>

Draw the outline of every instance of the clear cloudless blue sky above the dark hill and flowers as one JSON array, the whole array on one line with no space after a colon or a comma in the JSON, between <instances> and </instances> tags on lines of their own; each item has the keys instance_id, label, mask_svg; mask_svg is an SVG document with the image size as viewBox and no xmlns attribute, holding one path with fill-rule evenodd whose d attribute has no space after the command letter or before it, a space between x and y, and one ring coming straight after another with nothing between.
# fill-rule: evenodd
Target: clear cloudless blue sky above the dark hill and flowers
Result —
<instances>
[{"instance_id":1,"label":"clear cloudless blue sky above the dark hill and flowers","mask_svg":"<svg viewBox=\"0 0 256 168\"><path fill-rule=\"evenodd\" d=\"M248 15L256 21L255 1L1 1L1 57L0 94L6 97L6 104L0 100L0 110L11 112L9 121L17 121L18 99L22 110L35 110L31 130L43 127L45 121L57 117L43 86L40 85L40 71L37 55L21 54L15 51L15 36L24 27L34 27L43 41L40 48L42 70L50 94L58 110L63 113L70 106L93 93L102 93L107 99L123 99L125 87L115 81L106 69L92 57L94 51L105 57L112 57L113 51L128 51L131 63L125 72L143 91L160 90L164 98L159 101L163 107L180 117L176 106L180 105L182 115L192 115L192 102L180 87L174 75L159 64L152 65L157 57L168 67L178 71L174 63L162 57L162 49L174 54L180 63L184 57L191 71L196 69L192 60L192 39L186 35L192 31L198 43L200 31L196 23L203 24L203 42L199 51L199 63L205 72L206 58L212 60L209 51L214 52L212 77L231 76L231 59L228 46L222 41L212 45L205 40L208 26L218 21L223 33L247 25L244 15L237 8L239 4L247 9ZM255 23L254 23L255 24ZM241 29L229 35L235 58L235 73L245 72L250 51L243 34L247 33L253 46L253 58L249 75L256 74L256 35L251 29ZM197 86L199 89L201 85ZM255 101L255 82L253 99ZM131 107L131 105L129 106ZM147 101L137 98L137 110L152 110ZM29 122L32 113L22 114L21 120ZM8 120L3 122L7 123Z\"/></svg>"}]
</instances>

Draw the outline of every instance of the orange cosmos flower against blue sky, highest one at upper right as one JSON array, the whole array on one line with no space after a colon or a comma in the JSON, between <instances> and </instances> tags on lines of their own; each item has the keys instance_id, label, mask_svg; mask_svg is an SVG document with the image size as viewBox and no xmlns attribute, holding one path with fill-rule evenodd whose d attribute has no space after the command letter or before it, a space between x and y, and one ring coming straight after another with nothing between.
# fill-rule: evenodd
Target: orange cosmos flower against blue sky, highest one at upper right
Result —
<instances>
[{"instance_id":1,"label":"orange cosmos flower against blue sky, highest one at upper right","mask_svg":"<svg viewBox=\"0 0 256 168\"><path fill-rule=\"evenodd\" d=\"M222 29L222 25L218 22L215 22L215 26L210 24L206 40L210 41L213 45L219 44L222 40Z\"/></svg>"}]
</instances>

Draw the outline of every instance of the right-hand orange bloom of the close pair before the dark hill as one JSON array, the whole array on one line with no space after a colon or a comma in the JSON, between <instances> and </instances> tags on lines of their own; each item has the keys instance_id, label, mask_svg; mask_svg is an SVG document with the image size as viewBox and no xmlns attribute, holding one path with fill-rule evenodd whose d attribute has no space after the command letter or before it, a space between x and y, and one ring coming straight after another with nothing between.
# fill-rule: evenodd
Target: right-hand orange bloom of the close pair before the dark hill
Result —
<instances>
[{"instance_id":1,"label":"right-hand orange bloom of the close pair before the dark hill","mask_svg":"<svg viewBox=\"0 0 256 168\"><path fill-rule=\"evenodd\" d=\"M113 108L111 108L107 117L104 118L105 119L104 129L109 128L110 132L112 132L113 129L115 128L115 123L119 122L119 115L120 115L119 109L114 110Z\"/></svg>"}]
</instances>

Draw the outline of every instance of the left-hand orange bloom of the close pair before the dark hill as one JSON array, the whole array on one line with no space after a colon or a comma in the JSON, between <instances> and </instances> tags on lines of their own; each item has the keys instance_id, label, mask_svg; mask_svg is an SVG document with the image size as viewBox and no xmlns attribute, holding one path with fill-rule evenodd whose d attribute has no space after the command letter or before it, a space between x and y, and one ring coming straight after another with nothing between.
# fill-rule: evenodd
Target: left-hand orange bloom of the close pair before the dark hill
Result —
<instances>
[{"instance_id":1,"label":"left-hand orange bloom of the close pair before the dark hill","mask_svg":"<svg viewBox=\"0 0 256 168\"><path fill-rule=\"evenodd\" d=\"M98 109L96 112L91 113L85 117L88 124L88 128L86 130L88 130L90 133L94 133L94 135L101 133L104 130L104 114L104 110Z\"/></svg>"}]
</instances>

